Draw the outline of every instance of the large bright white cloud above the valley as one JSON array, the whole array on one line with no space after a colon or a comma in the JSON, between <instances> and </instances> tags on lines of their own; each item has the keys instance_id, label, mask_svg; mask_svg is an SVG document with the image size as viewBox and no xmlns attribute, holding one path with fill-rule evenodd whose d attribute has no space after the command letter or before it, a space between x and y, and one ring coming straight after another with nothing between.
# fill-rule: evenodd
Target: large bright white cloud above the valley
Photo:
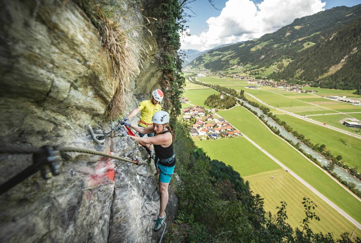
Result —
<instances>
[{"instance_id":1,"label":"large bright white cloud above the valley","mask_svg":"<svg viewBox=\"0 0 361 243\"><path fill-rule=\"evenodd\" d=\"M321 0L229 0L217 17L210 17L208 30L199 36L183 36L182 49L206 50L218 45L259 38L280 27L319 11ZM188 31L189 32L189 31Z\"/></svg>"}]
</instances>

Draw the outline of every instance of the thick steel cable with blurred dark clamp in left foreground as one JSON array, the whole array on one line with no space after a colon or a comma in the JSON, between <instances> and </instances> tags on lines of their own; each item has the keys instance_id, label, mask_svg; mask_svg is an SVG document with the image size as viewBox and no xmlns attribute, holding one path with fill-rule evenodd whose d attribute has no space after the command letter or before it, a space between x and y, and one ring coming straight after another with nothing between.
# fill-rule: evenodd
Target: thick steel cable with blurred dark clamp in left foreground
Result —
<instances>
[{"instance_id":1,"label":"thick steel cable with blurred dark clamp in left foreground","mask_svg":"<svg viewBox=\"0 0 361 243\"><path fill-rule=\"evenodd\" d=\"M25 170L21 171L19 174L13 176L11 179L0 185L0 195L7 192L9 189L13 188L17 184L21 183L27 177L31 176L35 172L40 170L40 174L43 179L50 179L53 175L57 176L60 174L60 161L61 154L60 152L77 152L77 153L87 153L93 155L99 155L103 157L118 159L124 162L132 163L135 165L140 165L138 158L134 158L134 161L125 159L122 157L114 156L112 154L107 154L90 149L81 149L81 148L72 148L72 147L58 147L52 149L49 145L45 145L40 149L36 148L22 148L22 147L0 147L0 153L9 153L9 154L33 154L32 161L33 164Z\"/></svg>"}]
</instances>

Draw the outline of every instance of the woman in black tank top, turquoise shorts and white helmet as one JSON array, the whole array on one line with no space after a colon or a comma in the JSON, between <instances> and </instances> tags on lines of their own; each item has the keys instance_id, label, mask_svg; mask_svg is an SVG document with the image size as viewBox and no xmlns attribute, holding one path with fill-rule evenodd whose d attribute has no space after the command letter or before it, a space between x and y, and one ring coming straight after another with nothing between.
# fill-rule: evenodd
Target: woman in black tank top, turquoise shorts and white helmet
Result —
<instances>
[{"instance_id":1,"label":"woman in black tank top, turquoise shorts and white helmet","mask_svg":"<svg viewBox=\"0 0 361 243\"><path fill-rule=\"evenodd\" d=\"M169 114L165 111L158 111L152 118L152 126L139 127L131 125L126 121L121 121L122 125L130 126L132 129L142 134L155 133L155 136L138 137L130 136L132 139L137 140L139 143L153 144L155 151L154 162L156 164L157 175L159 175L159 190L160 190L160 211L158 220L154 227L154 231L159 231L166 219L165 208L168 203L168 185L173 175L175 167L175 153L173 150L173 139L168 129ZM129 136L129 135L128 135Z\"/></svg>"}]
</instances>

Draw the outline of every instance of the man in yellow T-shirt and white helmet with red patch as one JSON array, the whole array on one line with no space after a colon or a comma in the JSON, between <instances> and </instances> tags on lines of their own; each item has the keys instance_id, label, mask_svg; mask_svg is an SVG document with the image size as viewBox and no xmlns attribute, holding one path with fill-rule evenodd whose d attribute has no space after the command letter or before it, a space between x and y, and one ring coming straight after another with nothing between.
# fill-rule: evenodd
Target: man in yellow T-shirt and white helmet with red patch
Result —
<instances>
[{"instance_id":1,"label":"man in yellow T-shirt and white helmet with red patch","mask_svg":"<svg viewBox=\"0 0 361 243\"><path fill-rule=\"evenodd\" d=\"M152 98L150 100L143 100L139 103L138 107L132 110L128 116L124 117L122 121L127 121L129 118L132 118L136 116L140 111L140 121L138 123L138 126L140 127L149 127L152 126L152 117L153 115L161 110L159 102L163 100L163 92L160 89L153 90L152 92ZM140 137L143 137L143 133L139 133ZM153 133L148 134L148 137L154 136ZM150 145L148 145L148 148L150 149Z\"/></svg>"}]
</instances>

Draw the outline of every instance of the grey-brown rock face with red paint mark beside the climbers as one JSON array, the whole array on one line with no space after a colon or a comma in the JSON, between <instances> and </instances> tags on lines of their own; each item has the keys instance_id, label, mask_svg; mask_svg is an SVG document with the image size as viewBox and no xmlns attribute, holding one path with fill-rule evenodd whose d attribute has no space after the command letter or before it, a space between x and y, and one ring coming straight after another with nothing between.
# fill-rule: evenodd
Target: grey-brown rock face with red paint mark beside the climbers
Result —
<instances>
[{"instance_id":1,"label":"grey-brown rock face with red paint mark beside the climbers","mask_svg":"<svg viewBox=\"0 0 361 243\"><path fill-rule=\"evenodd\" d=\"M144 24L141 4L122 1L130 15L125 27ZM87 130L116 125L102 122L117 82L99 32L74 1L9 0L0 9L0 144L86 148L144 161L63 154L60 175L34 174L0 196L0 242L154 242L161 234L152 222L159 193L147 153L130 138L97 144ZM137 94L149 93L160 77L156 41L144 30L130 38L152 45L131 84ZM139 101L132 92L127 97L129 111ZM30 155L0 154L0 183L31 164ZM171 186L169 193L168 224L177 211Z\"/></svg>"}]
</instances>

